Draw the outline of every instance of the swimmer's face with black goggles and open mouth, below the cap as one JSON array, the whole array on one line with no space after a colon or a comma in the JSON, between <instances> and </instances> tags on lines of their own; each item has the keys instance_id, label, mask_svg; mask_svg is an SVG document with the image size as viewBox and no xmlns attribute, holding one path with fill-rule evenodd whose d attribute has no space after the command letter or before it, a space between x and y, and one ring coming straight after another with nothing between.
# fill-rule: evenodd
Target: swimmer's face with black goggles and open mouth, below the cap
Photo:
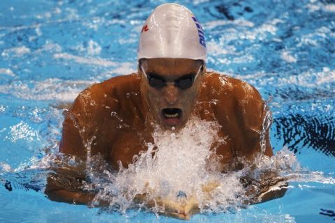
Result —
<instances>
[{"instance_id":1,"label":"swimmer's face with black goggles and open mouth, below the cap","mask_svg":"<svg viewBox=\"0 0 335 223\"><path fill-rule=\"evenodd\" d=\"M142 59L141 94L165 129L183 128L195 105L204 64L192 59Z\"/></svg>"}]
</instances>

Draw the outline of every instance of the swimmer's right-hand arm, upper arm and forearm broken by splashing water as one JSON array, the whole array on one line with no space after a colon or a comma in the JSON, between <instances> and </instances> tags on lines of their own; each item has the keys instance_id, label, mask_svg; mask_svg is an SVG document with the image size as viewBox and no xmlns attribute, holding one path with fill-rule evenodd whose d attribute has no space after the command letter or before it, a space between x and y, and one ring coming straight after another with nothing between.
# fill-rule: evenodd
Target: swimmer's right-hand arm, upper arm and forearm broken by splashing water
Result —
<instances>
[{"instance_id":1,"label":"swimmer's right-hand arm, upper arm and forearm broken by splashing water","mask_svg":"<svg viewBox=\"0 0 335 223\"><path fill-rule=\"evenodd\" d=\"M242 103L241 114L246 130L247 145L250 145L250 148L247 148L244 153L249 161L254 162L253 159L257 157L258 153L264 153L264 155L267 156L272 156L274 153L269 139L269 126L271 123L268 123L266 132L262 132L264 129L263 125L265 125L267 121L270 121L266 120L266 118L269 118L269 110L262 100L260 93L253 87L251 87L251 89L249 95L245 95L247 100L244 100ZM261 151L261 132L265 134L265 141L263 142L265 151L263 152ZM256 167L252 168L253 171L257 171L255 168ZM247 194L253 196L251 203L278 199L283 197L288 190L287 179L279 176L276 171L263 171L257 179L249 178L249 180L251 181L251 185L248 187Z\"/></svg>"}]
</instances>

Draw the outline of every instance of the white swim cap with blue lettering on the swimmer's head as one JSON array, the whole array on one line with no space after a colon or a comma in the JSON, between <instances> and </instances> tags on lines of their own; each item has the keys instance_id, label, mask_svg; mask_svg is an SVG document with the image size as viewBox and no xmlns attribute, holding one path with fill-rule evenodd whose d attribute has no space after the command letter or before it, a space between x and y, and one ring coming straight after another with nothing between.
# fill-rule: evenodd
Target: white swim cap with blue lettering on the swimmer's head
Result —
<instances>
[{"instance_id":1,"label":"white swim cap with blue lettering on the swimmer's head","mask_svg":"<svg viewBox=\"0 0 335 223\"><path fill-rule=\"evenodd\" d=\"M206 60L202 26L188 8L176 3L158 6L140 33L137 60L165 57Z\"/></svg>"}]
</instances>

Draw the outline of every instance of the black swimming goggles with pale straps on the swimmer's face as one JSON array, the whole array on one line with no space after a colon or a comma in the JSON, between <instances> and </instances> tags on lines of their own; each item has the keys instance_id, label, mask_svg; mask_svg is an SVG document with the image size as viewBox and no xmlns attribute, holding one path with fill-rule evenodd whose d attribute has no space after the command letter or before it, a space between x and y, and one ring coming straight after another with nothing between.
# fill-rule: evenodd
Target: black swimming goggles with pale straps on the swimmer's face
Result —
<instances>
[{"instance_id":1,"label":"black swimming goggles with pale straps on the swimmer's face","mask_svg":"<svg viewBox=\"0 0 335 223\"><path fill-rule=\"evenodd\" d=\"M186 89L191 88L191 86L193 85L193 82L199 76L200 71L202 70L202 67L203 65L200 66L196 75L184 75L183 77L179 77L178 79L176 79L174 82L167 82L160 75L147 74L142 68L142 66L140 66L142 72L144 73L144 77L146 77L148 80L149 86L155 89L162 89L164 86L167 86L168 83L172 83L174 84L174 86L177 86L181 90L186 90Z\"/></svg>"}]
</instances>

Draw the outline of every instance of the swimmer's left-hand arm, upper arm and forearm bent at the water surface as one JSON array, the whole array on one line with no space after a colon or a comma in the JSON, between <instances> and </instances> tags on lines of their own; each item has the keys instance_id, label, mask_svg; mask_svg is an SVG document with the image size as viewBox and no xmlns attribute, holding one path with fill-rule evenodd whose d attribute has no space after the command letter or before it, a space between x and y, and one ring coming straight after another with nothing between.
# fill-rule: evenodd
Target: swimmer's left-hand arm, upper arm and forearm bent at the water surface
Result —
<instances>
[{"instance_id":1,"label":"swimmer's left-hand arm, upper arm and forearm bent at the water surface","mask_svg":"<svg viewBox=\"0 0 335 223\"><path fill-rule=\"evenodd\" d=\"M97 107L90 105L92 100L98 102L96 98L87 96L91 95L92 92L92 89L87 89L80 93L70 110L65 112L61 143L59 145L59 152L73 155L83 161L87 159L87 150L84 142L87 139L91 139L91 131L96 129L91 127L91 121L97 121L96 118L92 117L98 116L94 112L100 112ZM98 105L100 104L98 102ZM112 105L110 107L113 108ZM78 204L90 204L93 201L96 192L82 190L82 183L86 178L83 170L77 171L73 167L61 167L53 170L54 173L47 177L45 188L45 194L50 200ZM64 172L64 170L66 171ZM66 183L65 185L64 182ZM94 203L98 203L98 206L103 206L104 202L94 201Z\"/></svg>"}]
</instances>

